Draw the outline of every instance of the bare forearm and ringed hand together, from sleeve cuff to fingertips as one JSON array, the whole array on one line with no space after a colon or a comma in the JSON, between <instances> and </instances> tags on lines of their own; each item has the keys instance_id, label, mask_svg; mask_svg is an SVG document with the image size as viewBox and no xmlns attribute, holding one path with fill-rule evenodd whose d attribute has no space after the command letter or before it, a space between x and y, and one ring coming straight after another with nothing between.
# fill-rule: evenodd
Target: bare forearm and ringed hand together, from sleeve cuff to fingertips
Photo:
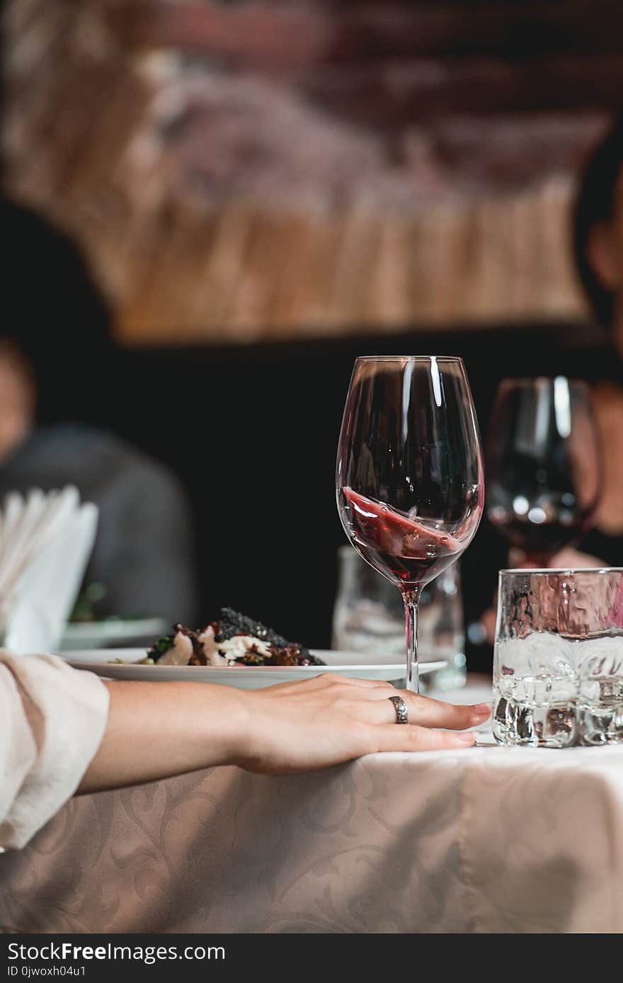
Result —
<instances>
[{"instance_id":1,"label":"bare forearm and ringed hand together, from sleeve cuff to fingertips","mask_svg":"<svg viewBox=\"0 0 623 983\"><path fill-rule=\"evenodd\" d=\"M106 685L108 723L82 792L212 765L288 774L338 765L371 751L470 747L474 734L452 731L484 723L490 710L486 704L455 707L387 682L328 672L251 693L201 682L113 680ZM389 701L396 695L407 704L408 724L396 723Z\"/></svg>"}]
</instances>

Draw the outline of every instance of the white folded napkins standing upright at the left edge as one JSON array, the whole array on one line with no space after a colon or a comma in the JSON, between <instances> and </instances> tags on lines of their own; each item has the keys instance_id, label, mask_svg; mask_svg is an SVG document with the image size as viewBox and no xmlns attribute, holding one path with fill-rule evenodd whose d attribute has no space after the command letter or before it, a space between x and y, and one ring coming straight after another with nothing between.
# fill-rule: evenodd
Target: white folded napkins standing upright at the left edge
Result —
<instances>
[{"instance_id":1,"label":"white folded napkins standing upright at the left edge","mask_svg":"<svg viewBox=\"0 0 623 983\"><path fill-rule=\"evenodd\" d=\"M0 511L0 629L13 652L55 650L76 602L97 529L77 489L7 495Z\"/></svg>"}]
</instances>

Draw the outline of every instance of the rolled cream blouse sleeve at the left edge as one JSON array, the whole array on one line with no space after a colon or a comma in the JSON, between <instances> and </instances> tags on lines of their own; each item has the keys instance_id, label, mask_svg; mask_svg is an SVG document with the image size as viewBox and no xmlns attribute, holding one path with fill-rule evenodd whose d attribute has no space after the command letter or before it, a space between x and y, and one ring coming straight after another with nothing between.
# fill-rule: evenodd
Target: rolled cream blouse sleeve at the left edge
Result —
<instances>
[{"instance_id":1,"label":"rolled cream blouse sleeve at the left edge","mask_svg":"<svg viewBox=\"0 0 623 983\"><path fill-rule=\"evenodd\" d=\"M108 699L91 672L0 650L0 850L24 846L72 797L101 743Z\"/></svg>"}]
</instances>

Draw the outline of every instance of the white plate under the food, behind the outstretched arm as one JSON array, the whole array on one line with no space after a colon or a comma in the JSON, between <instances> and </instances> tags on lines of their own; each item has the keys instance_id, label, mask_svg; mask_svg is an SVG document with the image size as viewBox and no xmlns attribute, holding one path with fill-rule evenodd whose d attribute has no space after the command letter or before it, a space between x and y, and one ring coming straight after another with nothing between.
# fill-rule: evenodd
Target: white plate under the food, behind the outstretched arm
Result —
<instances>
[{"instance_id":1,"label":"white plate under the food, behind the outstretched arm","mask_svg":"<svg viewBox=\"0 0 623 983\"><path fill-rule=\"evenodd\" d=\"M313 655L326 665L132 665L145 657L144 649L91 649L85 652L61 653L61 658L77 669L88 669L109 679L187 679L193 682L217 682L237 689L260 689L277 682L310 679L320 672L336 672L359 679L383 679L394 682L405 676L404 663L372 663L357 652L325 652L314 650ZM110 663L123 659L125 665ZM420 674L434 672L445 662L421 663Z\"/></svg>"}]
</instances>

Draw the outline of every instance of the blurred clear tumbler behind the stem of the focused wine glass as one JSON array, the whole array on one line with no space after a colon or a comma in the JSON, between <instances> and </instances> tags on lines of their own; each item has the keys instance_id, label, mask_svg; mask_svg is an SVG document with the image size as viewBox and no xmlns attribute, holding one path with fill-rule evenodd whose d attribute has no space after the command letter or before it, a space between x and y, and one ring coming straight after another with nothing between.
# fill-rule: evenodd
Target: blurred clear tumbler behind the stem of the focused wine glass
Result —
<instances>
[{"instance_id":1,"label":"blurred clear tumbler behind the stem of the focused wine glass","mask_svg":"<svg viewBox=\"0 0 623 983\"><path fill-rule=\"evenodd\" d=\"M405 613L400 595L351 547L338 549L338 563L333 649L395 655L400 661L405 651ZM466 665L458 563L425 586L419 633L420 661L448 664L430 676L428 685L439 689L463 686ZM428 676L423 682L426 680Z\"/></svg>"}]
</instances>

